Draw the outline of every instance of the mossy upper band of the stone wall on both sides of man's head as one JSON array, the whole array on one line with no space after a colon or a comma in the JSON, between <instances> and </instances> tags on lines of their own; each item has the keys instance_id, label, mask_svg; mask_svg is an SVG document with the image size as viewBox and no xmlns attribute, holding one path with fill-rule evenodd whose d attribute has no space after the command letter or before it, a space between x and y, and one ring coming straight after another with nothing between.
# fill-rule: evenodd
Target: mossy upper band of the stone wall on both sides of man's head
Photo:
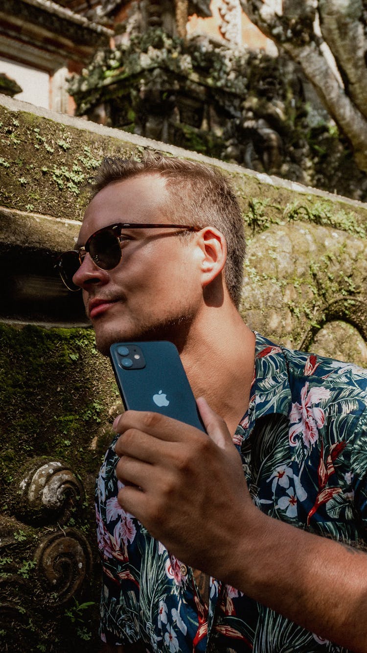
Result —
<instances>
[{"instance_id":1,"label":"mossy upper band of the stone wall on both sides of man's head","mask_svg":"<svg viewBox=\"0 0 367 653\"><path fill-rule=\"evenodd\" d=\"M201 139L202 147L209 153L211 144L202 140L200 131L191 130L188 138ZM0 107L0 140L0 204L61 219L81 219L87 202L88 180L103 157L139 157L143 150L132 144L128 135L126 141L111 134L102 136L29 112L12 112L3 106ZM37 166L34 165L36 157ZM292 189L276 185L276 178L272 183L266 177L261 181L245 169L226 174L233 182L245 223L251 231L297 219L327 223L356 234L360 228L361 236L365 229L367 209L362 204L352 208L347 200L340 198L319 200L314 195L300 193L297 184Z\"/></svg>"}]
</instances>

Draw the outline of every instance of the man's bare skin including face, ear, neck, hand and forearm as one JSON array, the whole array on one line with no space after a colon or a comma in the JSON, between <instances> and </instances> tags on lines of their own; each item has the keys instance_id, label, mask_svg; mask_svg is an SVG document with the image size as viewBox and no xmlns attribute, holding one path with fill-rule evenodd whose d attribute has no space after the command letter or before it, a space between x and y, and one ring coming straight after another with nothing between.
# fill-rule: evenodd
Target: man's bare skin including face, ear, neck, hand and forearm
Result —
<instances>
[{"instance_id":1,"label":"man's bare skin including face, ear, neck, hand and forearm","mask_svg":"<svg viewBox=\"0 0 367 653\"><path fill-rule=\"evenodd\" d=\"M111 183L89 204L78 244L113 221L175 222L169 200L158 176ZM86 255L74 283L104 353L133 338L177 345L208 435L156 413L117 417L119 503L179 560L367 653L366 554L267 517L248 494L231 435L248 406L254 334L224 283L224 238L210 226L186 241L158 231L127 232L114 270Z\"/></svg>"}]
</instances>

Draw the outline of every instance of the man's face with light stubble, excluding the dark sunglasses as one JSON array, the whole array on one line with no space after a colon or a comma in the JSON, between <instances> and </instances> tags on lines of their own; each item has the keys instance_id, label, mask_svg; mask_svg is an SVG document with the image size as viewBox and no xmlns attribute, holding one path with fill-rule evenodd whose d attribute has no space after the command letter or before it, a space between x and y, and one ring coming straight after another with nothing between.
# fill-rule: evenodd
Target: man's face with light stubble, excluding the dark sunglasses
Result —
<instances>
[{"instance_id":1,"label":"man's face with light stubble, excluding the dark sunglasses","mask_svg":"<svg viewBox=\"0 0 367 653\"><path fill-rule=\"evenodd\" d=\"M91 201L78 246L98 229L117 222L172 223L166 180L145 175L113 182ZM175 207L177 215L177 208ZM190 221L189 221L190 223ZM121 261L101 270L89 254L74 275L83 289L96 344L108 354L119 340L172 340L187 332L202 298L194 234L186 242L175 229L126 229Z\"/></svg>"}]
</instances>

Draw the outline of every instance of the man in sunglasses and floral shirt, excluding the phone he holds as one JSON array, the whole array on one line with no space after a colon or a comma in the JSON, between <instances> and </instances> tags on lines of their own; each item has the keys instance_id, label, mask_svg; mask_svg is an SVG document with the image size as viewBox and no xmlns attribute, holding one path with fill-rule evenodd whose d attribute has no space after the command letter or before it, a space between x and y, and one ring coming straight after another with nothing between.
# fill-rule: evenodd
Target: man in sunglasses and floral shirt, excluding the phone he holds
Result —
<instances>
[{"instance_id":1,"label":"man in sunglasses and floral shirt, excluding the phone he holds","mask_svg":"<svg viewBox=\"0 0 367 653\"><path fill-rule=\"evenodd\" d=\"M367 651L367 372L246 327L243 255L226 180L146 155L104 162L61 257L102 353L175 343L208 434L115 419L96 491L106 650Z\"/></svg>"}]
</instances>

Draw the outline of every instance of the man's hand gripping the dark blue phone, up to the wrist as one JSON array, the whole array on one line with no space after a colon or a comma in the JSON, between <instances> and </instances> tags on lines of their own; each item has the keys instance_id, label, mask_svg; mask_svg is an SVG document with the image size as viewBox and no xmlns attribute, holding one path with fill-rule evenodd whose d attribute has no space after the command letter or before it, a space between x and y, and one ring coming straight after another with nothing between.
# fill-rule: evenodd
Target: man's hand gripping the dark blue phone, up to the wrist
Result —
<instances>
[{"instance_id":1,"label":"man's hand gripping the dark blue phone, up to the wrist","mask_svg":"<svg viewBox=\"0 0 367 653\"><path fill-rule=\"evenodd\" d=\"M208 435L158 413L115 420L118 500L179 560L221 577L239 515L258 511L225 422L203 398L198 407Z\"/></svg>"}]
</instances>

